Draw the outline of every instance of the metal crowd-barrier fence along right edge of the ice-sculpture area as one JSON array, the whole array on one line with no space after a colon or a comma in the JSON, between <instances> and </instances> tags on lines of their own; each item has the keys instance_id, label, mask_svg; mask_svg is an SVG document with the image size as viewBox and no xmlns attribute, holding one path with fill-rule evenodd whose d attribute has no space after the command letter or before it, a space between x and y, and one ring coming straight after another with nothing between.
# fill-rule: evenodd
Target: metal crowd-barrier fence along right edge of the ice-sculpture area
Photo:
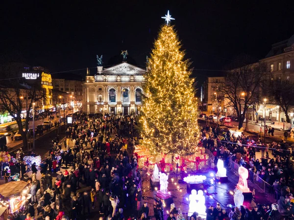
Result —
<instances>
[{"instance_id":1,"label":"metal crowd-barrier fence along right edge of the ice-sculpture area","mask_svg":"<svg viewBox=\"0 0 294 220\"><path fill-rule=\"evenodd\" d=\"M236 171L238 173L239 167L241 165L236 163L233 160L229 160L229 167L231 169L233 169L234 171ZM252 171L248 171L248 179L254 183L256 186L258 186L263 192L268 193L269 196L271 196L272 198L274 198L274 192L272 189L272 186L267 183L265 180L263 180L260 176L258 176L257 174L255 174Z\"/></svg>"}]
</instances>

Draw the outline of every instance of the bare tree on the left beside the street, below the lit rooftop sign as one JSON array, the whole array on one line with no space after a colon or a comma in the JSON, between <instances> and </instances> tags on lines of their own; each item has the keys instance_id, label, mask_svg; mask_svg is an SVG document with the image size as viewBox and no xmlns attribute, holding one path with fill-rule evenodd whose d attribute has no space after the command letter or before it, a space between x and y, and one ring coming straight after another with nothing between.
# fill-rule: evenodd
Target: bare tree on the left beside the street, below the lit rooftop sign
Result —
<instances>
[{"instance_id":1,"label":"bare tree on the left beside the street, below the lit rooftop sign","mask_svg":"<svg viewBox=\"0 0 294 220\"><path fill-rule=\"evenodd\" d=\"M15 67L15 66L14 66ZM27 132L30 112L33 103L38 103L45 98L41 81L36 79L29 84L20 78L19 68L1 68L0 78L0 112L8 112L18 124L19 133L22 135L24 148L27 147ZM26 112L22 118L22 111ZM23 125L23 121L25 121Z\"/></svg>"}]
</instances>

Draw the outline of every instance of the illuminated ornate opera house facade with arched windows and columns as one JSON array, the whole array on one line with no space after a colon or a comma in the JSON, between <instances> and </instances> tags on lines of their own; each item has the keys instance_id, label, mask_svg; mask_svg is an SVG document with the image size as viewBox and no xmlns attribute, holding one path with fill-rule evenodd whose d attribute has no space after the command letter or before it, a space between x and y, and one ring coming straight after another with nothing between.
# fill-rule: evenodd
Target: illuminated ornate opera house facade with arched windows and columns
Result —
<instances>
[{"instance_id":1,"label":"illuminated ornate opera house facade with arched windows and columns","mask_svg":"<svg viewBox=\"0 0 294 220\"><path fill-rule=\"evenodd\" d=\"M140 114L145 69L123 62L90 75L83 83L83 111L87 113Z\"/></svg>"}]
</instances>

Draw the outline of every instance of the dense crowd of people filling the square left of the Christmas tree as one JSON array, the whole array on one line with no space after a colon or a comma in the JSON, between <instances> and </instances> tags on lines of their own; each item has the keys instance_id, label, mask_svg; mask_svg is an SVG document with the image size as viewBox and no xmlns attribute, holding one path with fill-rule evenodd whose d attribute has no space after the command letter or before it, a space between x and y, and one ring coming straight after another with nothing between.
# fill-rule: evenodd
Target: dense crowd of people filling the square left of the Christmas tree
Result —
<instances>
[{"instance_id":1,"label":"dense crowd of people filling the square left of the Christmas tree","mask_svg":"<svg viewBox=\"0 0 294 220\"><path fill-rule=\"evenodd\" d=\"M13 218L74 220L90 218L91 212L95 212L109 220L146 220L149 208L143 202L141 176L133 154L137 117L75 117L65 140L52 140L49 155L40 166L30 166L31 175L22 152L20 161L9 164L9 176L19 173L29 183L31 195ZM160 206L160 201L156 206ZM124 210L132 216L124 218Z\"/></svg>"}]
</instances>

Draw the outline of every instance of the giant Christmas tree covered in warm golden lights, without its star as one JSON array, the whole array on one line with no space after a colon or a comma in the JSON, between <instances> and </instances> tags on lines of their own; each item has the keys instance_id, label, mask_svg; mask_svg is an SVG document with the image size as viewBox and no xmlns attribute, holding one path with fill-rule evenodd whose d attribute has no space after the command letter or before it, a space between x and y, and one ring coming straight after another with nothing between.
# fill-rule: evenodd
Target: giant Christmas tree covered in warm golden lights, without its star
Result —
<instances>
[{"instance_id":1,"label":"giant Christmas tree covered in warm golden lights, without its star","mask_svg":"<svg viewBox=\"0 0 294 220\"><path fill-rule=\"evenodd\" d=\"M163 25L147 63L142 107L142 144L151 154L193 154L198 110L189 61L173 26Z\"/></svg>"}]
</instances>

